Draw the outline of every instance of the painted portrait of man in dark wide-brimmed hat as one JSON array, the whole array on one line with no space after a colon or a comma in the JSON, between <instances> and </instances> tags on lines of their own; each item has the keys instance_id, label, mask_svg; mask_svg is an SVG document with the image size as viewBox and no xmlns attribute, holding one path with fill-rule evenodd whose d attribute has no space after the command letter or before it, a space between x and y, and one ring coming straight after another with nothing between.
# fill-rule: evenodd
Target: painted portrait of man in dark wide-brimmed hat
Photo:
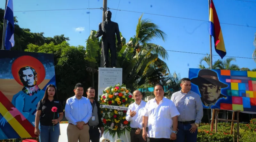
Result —
<instances>
[{"instance_id":1,"label":"painted portrait of man in dark wide-brimmed hat","mask_svg":"<svg viewBox=\"0 0 256 142\"><path fill-rule=\"evenodd\" d=\"M191 82L198 86L204 108L211 108L219 99L227 98L220 90L228 85L219 81L215 71L202 69L196 78L191 79Z\"/></svg>"}]
</instances>

